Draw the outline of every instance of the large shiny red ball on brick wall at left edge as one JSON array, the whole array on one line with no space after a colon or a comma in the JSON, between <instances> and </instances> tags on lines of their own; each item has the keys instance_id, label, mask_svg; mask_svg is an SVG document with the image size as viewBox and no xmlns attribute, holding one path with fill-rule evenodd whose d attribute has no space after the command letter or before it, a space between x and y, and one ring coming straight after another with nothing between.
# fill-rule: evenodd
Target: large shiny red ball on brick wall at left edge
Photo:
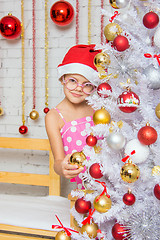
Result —
<instances>
[{"instance_id":1,"label":"large shiny red ball on brick wall at left edge","mask_svg":"<svg viewBox=\"0 0 160 240\"><path fill-rule=\"evenodd\" d=\"M0 21L0 31L6 39L16 39L21 35L21 22L18 18L8 15Z\"/></svg>"}]
</instances>

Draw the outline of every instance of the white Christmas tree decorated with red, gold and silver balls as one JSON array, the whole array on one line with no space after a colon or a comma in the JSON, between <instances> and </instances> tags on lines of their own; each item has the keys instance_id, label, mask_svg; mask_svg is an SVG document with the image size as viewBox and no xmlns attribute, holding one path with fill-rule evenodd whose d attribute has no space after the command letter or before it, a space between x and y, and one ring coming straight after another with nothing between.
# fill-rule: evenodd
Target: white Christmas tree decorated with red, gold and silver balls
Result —
<instances>
[{"instance_id":1,"label":"white Christmas tree decorated with red, gold and silver balls","mask_svg":"<svg viewBox=\"0 0 160 240\"><path fill-rule=\"evenodd\" d=\"M93 191L71 193L82 230L73 239L160 239L159 13L158 0L115 0L102 9L108 41L96 45L99 80L87 99L95 126L86 129L90 159L81 174ZM98 233L89 234L86 223L97 224Z\"/></svg>"}]
</instances>

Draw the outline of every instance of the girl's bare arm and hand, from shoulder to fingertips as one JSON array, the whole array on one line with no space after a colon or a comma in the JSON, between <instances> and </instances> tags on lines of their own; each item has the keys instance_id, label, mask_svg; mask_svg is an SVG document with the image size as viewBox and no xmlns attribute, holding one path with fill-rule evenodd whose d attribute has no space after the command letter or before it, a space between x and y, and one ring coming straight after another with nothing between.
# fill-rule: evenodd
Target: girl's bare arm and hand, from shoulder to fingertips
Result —
<instances>
[{"instance_id":1,"label":"girl's bare arm and hand, from shoulder to fingertips","mask_svg":"<svg viewBox=\"0 0 160 240\"><path fill-rule=\"evenodd\" d=\"M83 170L83 167L78 168L77 165L69 164L70 155L65 156L64 153L60 124L61 118L57 111L50 110L45 117L45 126L54 156L54 170L58 175L74 178Z\"/></svg>"}]
</instances>

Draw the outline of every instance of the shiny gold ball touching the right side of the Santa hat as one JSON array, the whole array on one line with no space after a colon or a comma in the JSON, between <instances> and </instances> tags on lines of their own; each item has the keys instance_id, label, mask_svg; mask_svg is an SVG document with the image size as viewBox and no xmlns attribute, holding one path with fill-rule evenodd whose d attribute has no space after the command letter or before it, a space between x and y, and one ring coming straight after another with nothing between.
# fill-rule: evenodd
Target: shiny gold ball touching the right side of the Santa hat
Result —
<instances>
[{"instance_id":1,"label":"shiny gold ball touching the right side of the Santa hat","mask_svg":"<svg viewBox=\"0 0 160 240\"><path fill-rule=\"evenodd\" d=\"M94 57L94 65L96 68L105 69L110 63L110 56L107 53L101 52Z\"/></svg>"}]
</instances>

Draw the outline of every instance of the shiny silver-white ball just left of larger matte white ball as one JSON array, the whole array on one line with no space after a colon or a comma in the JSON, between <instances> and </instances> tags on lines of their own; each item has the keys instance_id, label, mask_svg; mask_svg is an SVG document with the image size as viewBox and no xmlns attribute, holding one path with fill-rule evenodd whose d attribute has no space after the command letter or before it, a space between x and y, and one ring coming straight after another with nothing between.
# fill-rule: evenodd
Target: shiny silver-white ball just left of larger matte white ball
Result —
<instances>
[{"instance_id":1,"label":"shiny silver-white ball just left of larger matte white ball","mask_svg":"<svg viewBox=\"0 0 160 240\"><path fill-rule=\"evenodd\" d=\"M119 132L110 133L107 137L107 144L114 150L120 150L125 145L125 137Z\"/></svg>"}]
</instances>

